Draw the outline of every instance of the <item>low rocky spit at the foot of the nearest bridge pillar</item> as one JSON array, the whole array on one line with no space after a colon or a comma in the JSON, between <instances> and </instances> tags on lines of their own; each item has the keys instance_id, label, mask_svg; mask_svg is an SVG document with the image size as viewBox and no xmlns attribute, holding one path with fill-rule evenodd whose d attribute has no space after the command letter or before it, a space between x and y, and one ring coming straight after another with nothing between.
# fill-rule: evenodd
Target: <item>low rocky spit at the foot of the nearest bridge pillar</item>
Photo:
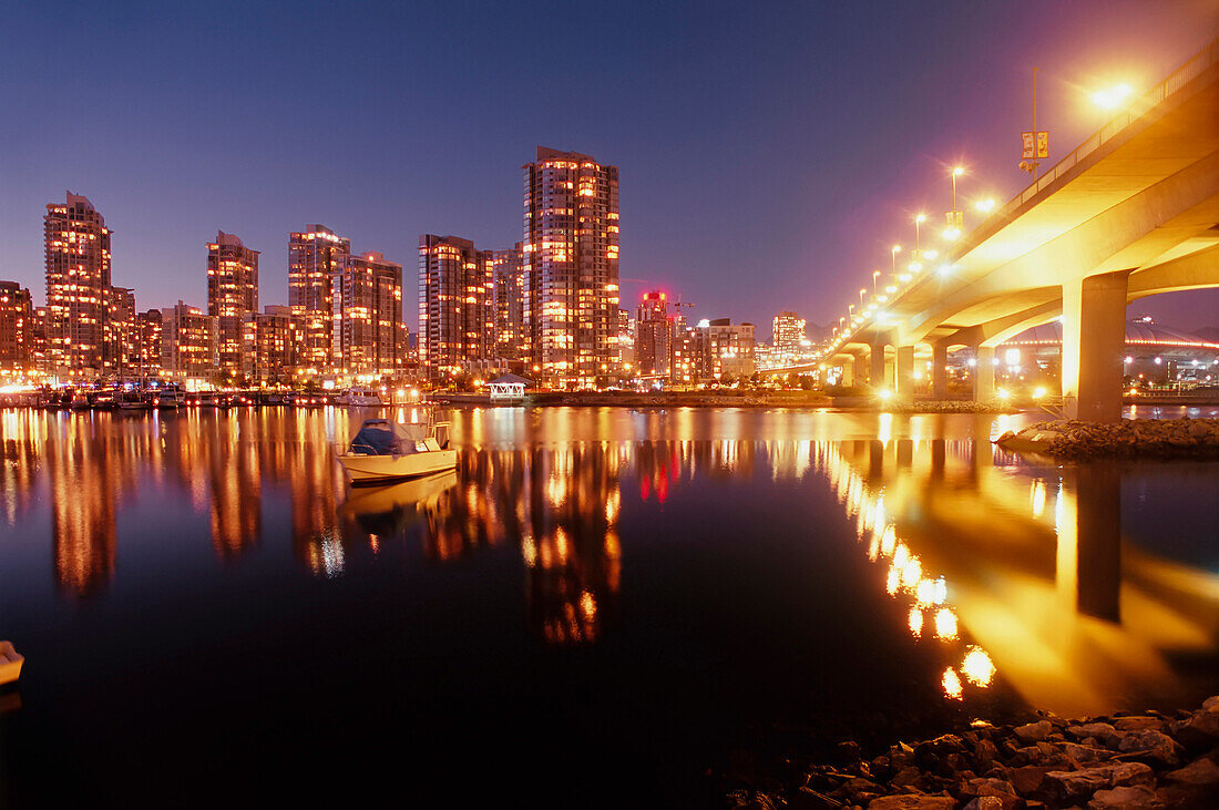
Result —
<instances>
[{"instance_id":1,"label":"low rocky spit at the foot of the nearest bridge pillar","mask_svg":"<svg viewBox=\"0 0 1219 810\"><path fill-rule=\"evenodd\" d=\"M995 440L1003 449L1056 458L1219 458L1219 419L1123 419L1113 424L1039 421Z\"/></svg>"}]
</instances>

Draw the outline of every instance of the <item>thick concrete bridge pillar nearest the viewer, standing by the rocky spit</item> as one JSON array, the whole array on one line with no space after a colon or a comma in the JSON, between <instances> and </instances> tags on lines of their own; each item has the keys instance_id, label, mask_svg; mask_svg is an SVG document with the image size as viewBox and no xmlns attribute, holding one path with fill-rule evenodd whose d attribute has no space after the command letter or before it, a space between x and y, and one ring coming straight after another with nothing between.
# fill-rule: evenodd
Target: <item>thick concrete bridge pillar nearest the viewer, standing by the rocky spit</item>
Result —
<instances>
[{"instance_id":1,"label":"thick concrete bridge pillar nearest the viewer, standing by the rocky spit","mask_svg":"<svg viewBox=\"0 0 1219 810\"><path fill-rule=\"evenodd\" d=\"M1102 273L1063 285L1063 410L1069 419L1121 419L1130 270Z\"/></svg>"}]
</instances>

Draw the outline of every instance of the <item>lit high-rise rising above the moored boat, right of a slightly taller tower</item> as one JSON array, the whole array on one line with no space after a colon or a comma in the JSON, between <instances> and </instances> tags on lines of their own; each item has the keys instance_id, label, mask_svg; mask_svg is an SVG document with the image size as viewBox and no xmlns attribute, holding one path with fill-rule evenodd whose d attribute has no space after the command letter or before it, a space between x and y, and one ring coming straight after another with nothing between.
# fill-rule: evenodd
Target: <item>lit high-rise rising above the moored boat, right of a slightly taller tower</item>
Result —
<instances>
[{"instance_id":1,"label":"lit high-rise rising above the moored boat, right of a slightly taller tower","mask_svg":"<svg viewBox=\"0 0 1219 810\"><path fill-rule=\"evenodd\" d=\"M393 375L400 357L402 266L380 253L349 255L330 279L333 364L352 375Z\"/></svg>"}]
</instances>

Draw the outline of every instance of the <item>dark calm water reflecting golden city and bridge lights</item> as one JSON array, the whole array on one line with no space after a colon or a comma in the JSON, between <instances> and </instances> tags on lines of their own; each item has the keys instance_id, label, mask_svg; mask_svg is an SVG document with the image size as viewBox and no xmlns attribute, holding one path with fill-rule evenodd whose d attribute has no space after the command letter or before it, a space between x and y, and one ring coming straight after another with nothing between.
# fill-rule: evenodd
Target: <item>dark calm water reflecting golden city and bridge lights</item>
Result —
<instances>
[{"instance_id":1,"label":"dark calm water reflecting golden city and bridge lights","mask_svg":"<svg viewBox=\"0 0 1219 810\"><path fill-rule=\"evenodd\" d=\"M713 804L844 737L1219 692L1219 465L1029 417L0 412L0 804ZM1171 414L1169 414L1171 415Z\"/></svg>"}]
</instances>

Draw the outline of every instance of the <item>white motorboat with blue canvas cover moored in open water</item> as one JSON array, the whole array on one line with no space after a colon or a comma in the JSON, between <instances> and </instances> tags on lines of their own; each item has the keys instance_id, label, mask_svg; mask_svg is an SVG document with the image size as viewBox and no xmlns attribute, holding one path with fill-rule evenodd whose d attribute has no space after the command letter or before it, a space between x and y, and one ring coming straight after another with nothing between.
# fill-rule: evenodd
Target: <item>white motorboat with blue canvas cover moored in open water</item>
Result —
<instances>
[{"instance_id":1,"label":"white motorboat with blue canvas cover moored in open water","mask_svg":"<svg viewBox=\"0 0 1219 810\"><path fill-rule=\"evenodd\" d=\"M364 419L336 456L352 486L405 481L457 467L457 451L449 447L449 423L435 421L430 414L422 423Z\"/></svg>"}]
</instances>

